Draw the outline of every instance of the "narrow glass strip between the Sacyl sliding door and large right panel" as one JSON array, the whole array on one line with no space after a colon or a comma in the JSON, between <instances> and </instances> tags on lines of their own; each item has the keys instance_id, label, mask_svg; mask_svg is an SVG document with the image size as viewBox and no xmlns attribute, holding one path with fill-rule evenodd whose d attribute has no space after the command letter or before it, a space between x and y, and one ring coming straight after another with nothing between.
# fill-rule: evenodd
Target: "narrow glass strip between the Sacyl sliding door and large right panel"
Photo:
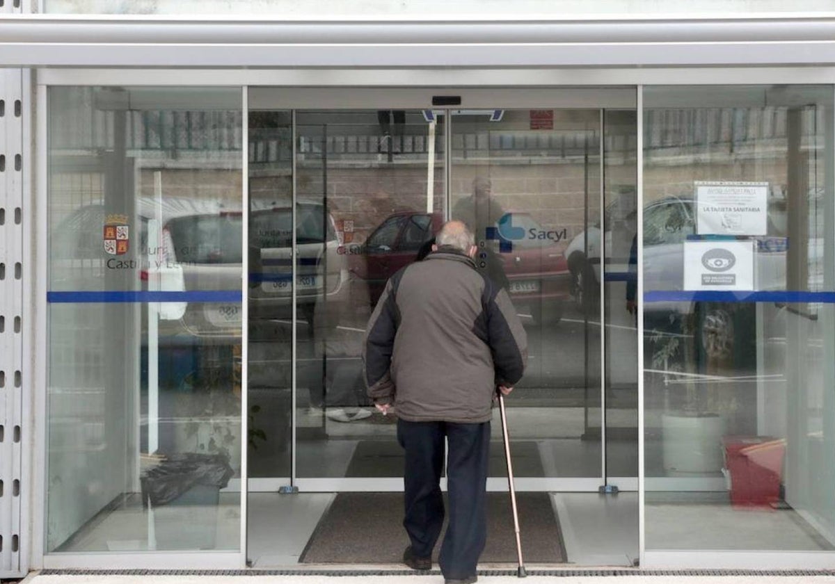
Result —
<instances>
[{"instance_id":1,"label":"narrow glass strip between the Sacyl sliding door and large right panel","mask_svg":"<svg viewBox=\"0 0 835 584\"><path fill-rule=\"evenodd\" d=\"M637 129L635 110L604 112L608 476L638 476Z\"/></svg>"}]
</instances>

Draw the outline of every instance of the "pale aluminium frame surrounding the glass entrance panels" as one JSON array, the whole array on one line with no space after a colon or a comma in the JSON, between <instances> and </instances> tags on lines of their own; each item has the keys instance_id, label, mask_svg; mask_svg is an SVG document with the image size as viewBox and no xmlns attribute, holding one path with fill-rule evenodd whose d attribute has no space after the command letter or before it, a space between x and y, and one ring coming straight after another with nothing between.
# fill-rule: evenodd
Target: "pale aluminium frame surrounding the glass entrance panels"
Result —
<instances>
[{"instance_id":1,"label":"pale aluminium frame surrounding the glass entrance panels","mask_svg":"<svg viewBox=\"0 0 835 584\"><path fill-rule=\"evenodd\" d=\"M100 53L100 49L96 49ZM225 86L245 86L245 85L262 85L272 84L275 86L284 86L287 88L297 88L300 86L310 85L311 80L315 80L316 85L326 86L327 88L341 87L341 86L356 86L362 84L365 88L369 86L385 86L391 88L397 86L415 87L446 84L450 81L450 73L447 71L435 71L426 69L421 71L410 70L403 72L398 69L358 69L353 71L348 78L345 72L341 69L333 68L317 68L316 70L306 68L287 68L275 70L233 70L233 69L218 69L218 68L85 68L86 65L78 63L79 67L75 68L44 68L38 69L33 73L33 77L37 78L38 83L38 98L37 98L37 124L36 124L36 164L37 164L37 183L43 185L43 179L46 177L45 173L45 154L46 149L46 88L53 85L63 86L77 86L77 85L133 85L133 86L157 86L157 87L183 87L183 86L205 86L205 85L225 85ZM719 64L719 63L714 63ZM827 84L835 83L835 68L832 66L812 65L809 67L797 67L792 64L788 66L780 66L776 63L767 63L762 67L751 67L750 65L720 65L705 68L692 68L687 63L668 63L666 66L658 68L618 68L618 67L600 67L600 68L514 68L512 71L508 70L490 70L479 68L464 68L455 73L455 82L461 83L467 87L507 87L512 85L519 88L519 91L526 91L528 88L539 89L543 87L560 87L560 86L575 86L582 85L585 88L603 88L612 85L628 86L637 94L636 105L638 115L638 208L642 208L643 196L643 148L642 148L642 119L643 108L641 104L642 92L645 86L650 85L742 85L742 84ZM578 79L581 82L578 83ZM344 90L343 90L344 91ZM382 90L377 90L380 93ZM244 104L244 108L247 104ZM46 315L45 315L45 296L46 296L46 269L44 267L43 250L38 249L40 245L38 241L43 238L46 233L46 214L43 210L43 187L39 186L30 190L32 199L37 199L38 209L37 217L30 217L28 219L31 230L31 236L24 241L24 260L30 266L36 266L31 270L33 280L30 288L33 294L28 295L24 310L28 310L33 315L33 323L31 324L32 338L28 342L28 346L24 348L27 354L30 355L32 362L45 362L46 348L44 339L46 338ZM25 215L24 215L25 219ZM639 232L642 230L642 214L639 213ZM831 219L830 219L831 221ZM641 241L639 238L639 253L638 253L638 309L639 309L639 335L643 334L643 278L640 262L641 257ZM642 362L643 345L639 344L639 363ZM31 409L34 412L32 419L35 421L32 432L29 437L31 446L34 449L32 456L32 486L29 489L28 496L31 498L31 518L29 524L32 526L32 550L29 556L32 566L42 567L59 567L67 568L72 566L78 567L107 567L119 565L119 557L124 556L108 555L108 556L62 556L62 561L44 561L43 556L43 493L45 489L43 477L43 464L45 460L45 441L43 436L43 420L41 420L38 412L43 412L45 408L43 387L45 384L45 375L43 368L35 368L33 370L34 395L31 401ZM675 566L680 568L685 564L691 565L700 552L681 552L678 554L667 554L665 552L650 552L645 553L645 527L644 527L644 398L643 398L643 375L639 375L639 545L640 545L640 565L645 567L664 567ZM634 479L633 479L634 480ZM784 567L811 567L820 565L822 562L827 562L831 565L832 555L826 552L821 553L787 553L787 552L767 552L766 554L757 553L736 553L736 552L709 552L705 557L701 557L700 566L716 565L717 556L723 565L729 567L752 567L763 568L780 564ZM787 561L776 561L775 556L780 558L787 558ZM181 561L176 561L175 556L165 558L164 561L159 561L158 556L152 557L149 561L138 561L135 557L132 558L128 566L137 566L142 564L146 567L171 567L181 568L183 564ZM725 559L727 558L727 559ZM810 558L815 561L807 561ZM819 559L818 559L819 558ZM122 560L124 561L124 560ZM765 563L763 563L765 561ZM805 562L805 563L804 563ZM203 565L205 568L213 566L226 567L240 567L242 564L230 564L229 562L222 562L220 564L212 562Z\"/></svg>"}]
</instances>

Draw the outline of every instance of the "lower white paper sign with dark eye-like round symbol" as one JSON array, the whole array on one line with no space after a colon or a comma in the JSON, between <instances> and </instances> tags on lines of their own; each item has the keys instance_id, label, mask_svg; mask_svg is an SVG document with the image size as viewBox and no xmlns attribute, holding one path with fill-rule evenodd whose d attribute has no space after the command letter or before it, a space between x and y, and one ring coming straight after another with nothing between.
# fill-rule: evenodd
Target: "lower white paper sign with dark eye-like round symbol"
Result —
<instances>
[{"instance_id":1,"label":"lower white paper sign with dark eye-like round symbol","mask_svg":"<svg viewBox=\"0 0 835 584\"><path fill-rule=\"evenodd\" d=\"M754 242L684 242L684 289L754 289Z\"/></svg>"}]
</instances>

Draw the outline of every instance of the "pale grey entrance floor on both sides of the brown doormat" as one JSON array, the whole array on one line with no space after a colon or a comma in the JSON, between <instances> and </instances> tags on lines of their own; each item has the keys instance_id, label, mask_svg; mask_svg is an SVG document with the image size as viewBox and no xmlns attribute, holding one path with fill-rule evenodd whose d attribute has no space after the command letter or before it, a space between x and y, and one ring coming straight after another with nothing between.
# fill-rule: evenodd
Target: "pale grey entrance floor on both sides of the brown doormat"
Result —
<instances>
[{"instance_id":1,"label":"pale grey entrance floor on both sides of the brown doormat","mask_svg":"<svg viewBox=\"0 0 835 584\"><path fill-rule=\"evenodd\" d=\"M708 496L709 495L709 496ZM251 493L247 556L255 567L298 566L299 556L332 493ZM597 493L552 493L554 511L568 561L574 566L631 566L638 556L638 496ZM740 509L721 500L721 493L650 493L645 505L648 550L780 550L831 551L827 539L802 514L791 509ZM240 536L236 493L222 493L220 506L186 507L180 523L155 528L180 533L193 517L216 517L212 549L235 550ZM163 511L163 510L159 510ZM176 519L176 518L175 518ZM154 541L147 511L131 503L100 514L62 551L130 552L151 549ZM524 525L521 526L524 531ZM192 531L195 531L192 529ZM188 548L180 534L181 547ZM163 548L157 546L159 550Z\"/></svg>"}]
</instances>

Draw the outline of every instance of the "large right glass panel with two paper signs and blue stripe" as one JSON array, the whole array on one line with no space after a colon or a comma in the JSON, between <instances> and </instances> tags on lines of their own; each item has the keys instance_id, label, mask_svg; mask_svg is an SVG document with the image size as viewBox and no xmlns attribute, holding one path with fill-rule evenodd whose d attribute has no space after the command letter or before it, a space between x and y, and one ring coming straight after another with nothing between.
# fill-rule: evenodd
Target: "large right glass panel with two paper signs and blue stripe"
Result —
<instances>
[{"instance_id":1,"label":"large right glass panel with two paper signs and blue stripe","mask_svg":"<svg viewBox=\"0 0 835 584\"><path fill-rule=\"evenodd\" d=\"M832 87L644 103L647 549L832 550Z\"/></svg>"}]
</instances>

